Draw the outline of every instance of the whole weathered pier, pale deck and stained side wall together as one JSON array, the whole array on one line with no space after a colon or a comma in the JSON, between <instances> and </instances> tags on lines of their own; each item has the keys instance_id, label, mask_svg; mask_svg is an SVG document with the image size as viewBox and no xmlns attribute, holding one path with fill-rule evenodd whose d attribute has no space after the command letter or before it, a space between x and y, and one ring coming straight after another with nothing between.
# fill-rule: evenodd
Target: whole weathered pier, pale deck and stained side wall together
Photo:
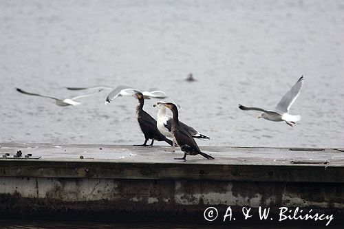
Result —
<instances>
[{"instance_id":1,"label":"whole weathered pier, pale deck and stained side wall together","mask_svg":"<svg viewBox=\"0 0 344 229\"><path fill-rule=\"evenodd\" d=\"M299 207L343 223L342 149L202 147L215 160L183 162L173 160L181 151L164 151L169 146L0 145L3 217L209 223L204 210L212 206L221 223L230 206L236 223L245 221L243 207L252 208L246 221L266 223L259 207L270 208L274 222L279 208Z\"/></svg>"}]
</instances>

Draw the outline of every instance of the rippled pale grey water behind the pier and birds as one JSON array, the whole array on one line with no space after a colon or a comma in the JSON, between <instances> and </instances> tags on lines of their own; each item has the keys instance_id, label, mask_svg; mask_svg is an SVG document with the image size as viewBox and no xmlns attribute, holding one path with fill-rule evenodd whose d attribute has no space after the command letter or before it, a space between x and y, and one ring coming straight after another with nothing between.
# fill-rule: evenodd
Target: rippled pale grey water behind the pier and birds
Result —
<instances>
[{"instance_id":1,"label":"rippled pale grey water behind the pier and birds","mask_svg":"<svg viewBox=\"0 0 344 229\"><path fill-rule=\"evenodd\" d=\"M343 1L0 1L0 142L141 144L134 98L14 90L124 84L166 91L201 146L343 147L343 73ZM295 127L238 109L273 109L301 74Z\"/></svg>"}]
</instances>

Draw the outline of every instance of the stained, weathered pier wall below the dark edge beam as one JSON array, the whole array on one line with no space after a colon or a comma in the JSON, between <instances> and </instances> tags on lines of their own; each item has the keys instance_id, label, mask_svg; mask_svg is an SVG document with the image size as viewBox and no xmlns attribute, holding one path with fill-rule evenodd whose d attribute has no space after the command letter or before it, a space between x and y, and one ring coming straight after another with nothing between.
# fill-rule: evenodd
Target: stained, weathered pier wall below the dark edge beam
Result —
<instances>
[{"instance_id":1,"label":"stained, weathered pier wall below the dark edge beam","mask_svg":"<svg viewBox=\"0 0 344 229\"><path fill-rule=\"evenodd\" d=\"M270 207L274 215L285 206L331 212L337 223L344 216L343 183L42 177L0 177L0 182L3 216L205 221L209 206L220 215L228 206L237 215L243 206Z\"/></svg>"}]
</instances>

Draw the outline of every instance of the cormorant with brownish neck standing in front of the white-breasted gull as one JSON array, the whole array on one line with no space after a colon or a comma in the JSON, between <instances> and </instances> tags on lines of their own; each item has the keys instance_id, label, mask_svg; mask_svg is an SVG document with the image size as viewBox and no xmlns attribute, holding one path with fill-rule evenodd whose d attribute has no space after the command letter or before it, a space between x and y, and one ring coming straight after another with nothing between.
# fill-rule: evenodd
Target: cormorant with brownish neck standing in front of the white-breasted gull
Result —
<instances>
[{"instance_id":1,"label":"cormorant with brownish neck standing in front of the white-breasted gull","mask_svg":"<svg viewBox=\"0 0 344 229\"><path fill-rule=\"evenodd\" d=\"M175 158L175 160L186 160L186 155L197 155L200 154L203 157L206 157L208 160L215 159L211 155L201 152L200 148L197 146L197 143L193 139L193 136L184 129L178 119L178 108L171 102L161 103L165 107L171 109L173 113L171 133L174 141L180 146L180 149L184 152L184 157Z\"/></svg>"}]
</instances>

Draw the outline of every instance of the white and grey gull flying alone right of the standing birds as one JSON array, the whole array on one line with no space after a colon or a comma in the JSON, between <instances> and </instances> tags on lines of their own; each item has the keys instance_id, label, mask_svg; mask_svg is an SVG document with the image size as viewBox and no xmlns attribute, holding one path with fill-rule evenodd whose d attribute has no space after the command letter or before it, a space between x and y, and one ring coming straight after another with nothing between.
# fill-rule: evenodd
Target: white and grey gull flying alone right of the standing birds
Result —
<instances>
[{"instance_id":1,"label":"white and grey gull flying alone right of the standing birds","mask_svg":"<svg viewBox=\"0 0 344 229\"><path fill-rule=\"evenodd\" d=\"M292 104L297 99L297 96L300 94L300 89L303 85L303 76L297 80L294 86L281 98L279 103L277 104L275 110L266 110L261 109L259 107L245 107L239 104L239 109L244 111L263 111L264 113L261 114L258 118L264 118L266 120L274 121L274 122L281 122L284 121L286 124L293 127L295 122L299 122L301 120L301 116L293 116L289 114L289 109Z\"/></svg>"}]
</instances>

